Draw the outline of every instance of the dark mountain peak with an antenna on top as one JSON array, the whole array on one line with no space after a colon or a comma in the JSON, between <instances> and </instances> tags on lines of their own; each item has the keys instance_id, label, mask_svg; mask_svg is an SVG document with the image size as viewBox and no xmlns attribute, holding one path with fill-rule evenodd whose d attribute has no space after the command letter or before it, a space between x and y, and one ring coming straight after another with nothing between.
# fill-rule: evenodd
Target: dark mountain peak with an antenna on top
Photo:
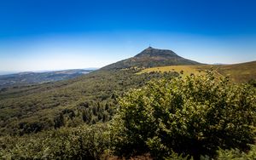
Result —
<instances>
[{"instance_id":1,"label":"dark mountain peak with an antenna on top","mask_svg":"<svg viewBox=\"0 0 256 160\"><path fill-rule=\"evenodd\" d=\"M187 60L175 54L168 49L154 49L148 47L141 53L126 60L121 60L108 66L102 67L102 70L117 70L130 68L132 66L154 67L154 66L177 66L177 65L199 65L199 62Z\"/></svg>"}]
</instances>

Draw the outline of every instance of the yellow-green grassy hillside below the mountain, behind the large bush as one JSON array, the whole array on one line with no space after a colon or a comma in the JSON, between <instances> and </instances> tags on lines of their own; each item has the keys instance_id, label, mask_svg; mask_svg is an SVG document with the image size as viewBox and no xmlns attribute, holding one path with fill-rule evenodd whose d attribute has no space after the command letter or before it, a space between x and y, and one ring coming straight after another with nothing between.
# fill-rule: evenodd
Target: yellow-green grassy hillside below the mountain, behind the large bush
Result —
<instances>
[{"instance_id":1,"label":"yellow-green grassy hillside below the mountain, behind the large bush","mask_svg":"<svg viewBox=\"0 0 256 160\"><path fill-rule=\"evenodd\" d=\"M189 76L192 73L195 75L204 75L211 68L217 77L228 76L237 83L246 83L251 79L256 79L256 61L235 65L158 66L146 68L137 74L152 71L177 71L178 73L183 72L183 76Z\"/></svg>"}]
</instances>

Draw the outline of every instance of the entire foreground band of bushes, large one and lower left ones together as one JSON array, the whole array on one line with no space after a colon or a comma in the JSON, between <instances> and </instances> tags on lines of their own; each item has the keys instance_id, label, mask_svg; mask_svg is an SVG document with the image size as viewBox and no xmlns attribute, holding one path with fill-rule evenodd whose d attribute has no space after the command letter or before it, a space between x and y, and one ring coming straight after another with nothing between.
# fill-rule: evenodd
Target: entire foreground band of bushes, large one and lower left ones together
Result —
<instances>
[{"instance_id":1,"label":"entire foreground band of bushes, large one and lower left ones together","mask_svg":"<svg viewBox=\"0 0 256 160\"><path fill-rule=\"evenodd\" d=\"M256 93L224 78L160 79L119 100L108 123L3 136L3 159L255 159Z\"/></svg>"}]
</instances>

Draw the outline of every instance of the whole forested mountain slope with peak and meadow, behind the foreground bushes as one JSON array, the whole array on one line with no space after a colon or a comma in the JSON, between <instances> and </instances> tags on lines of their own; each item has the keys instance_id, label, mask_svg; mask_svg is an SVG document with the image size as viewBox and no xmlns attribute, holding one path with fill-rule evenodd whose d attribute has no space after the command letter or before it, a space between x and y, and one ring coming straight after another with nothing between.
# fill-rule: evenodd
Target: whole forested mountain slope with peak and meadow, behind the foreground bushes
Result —
<instances>
[{"instance_id":1,"label":"whole forested mountain slope with peak and meadow, behind the foreground bushes","mask_svg":"<svg viewBox=\"0 0 256 160\"><path fill-rule=\"evenodd\" d=\"M125 66L122 60L69 80L28 83L0 89L0 135L31 134L61 126L107 122L119 107L117 98L127 90L140 88L152 79L177 77L181 70L185 75L195 71L203 73L212 67L183 59L171 50L152 48L143 50L128 61L131 63L125 63ZM163 66L165 63L160 62L176 66ZM254 63L246 65L251 73L255 68ZM147 66L157 67L142 71ZM237 75L243 74L242 71L246 73L246 67L241 66L244 65L231 67L234 70L230 66L213 67L219 75L229 72ZM235 73L239 67L241 73ZM167 72L158 72L160 69Z\"/></svg>"}]
</instances>

